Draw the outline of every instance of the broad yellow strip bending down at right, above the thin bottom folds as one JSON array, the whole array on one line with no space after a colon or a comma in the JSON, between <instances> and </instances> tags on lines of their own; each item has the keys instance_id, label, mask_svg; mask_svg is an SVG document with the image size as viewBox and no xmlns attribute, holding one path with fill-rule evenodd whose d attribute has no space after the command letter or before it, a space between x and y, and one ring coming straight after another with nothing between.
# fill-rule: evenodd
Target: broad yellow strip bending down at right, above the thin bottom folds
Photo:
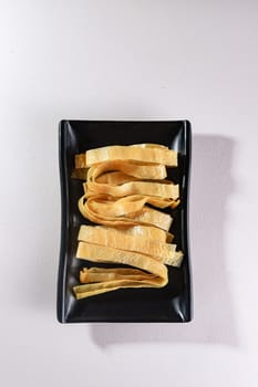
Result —
<instances>
[{"instance_id":1,"label":"broad yellow strip bending down at right, above the thin bottom folds","mask_svg":"<svg viewBox=\"0 0 258 387\"><path fill-rule=\"evenodd\" d=\"M128 264L161 278L163 285L167 283L167 268L162 262L141 253L79 242L76 258L91 262Z\"/></svg>"}]
</instances>

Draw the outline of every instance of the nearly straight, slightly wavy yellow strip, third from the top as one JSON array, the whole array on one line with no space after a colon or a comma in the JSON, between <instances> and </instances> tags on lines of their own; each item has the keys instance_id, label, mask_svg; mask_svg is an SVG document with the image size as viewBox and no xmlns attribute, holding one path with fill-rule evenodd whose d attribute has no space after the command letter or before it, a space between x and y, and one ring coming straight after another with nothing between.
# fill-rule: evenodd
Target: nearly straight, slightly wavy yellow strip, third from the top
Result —
<instances>
[{"instance_id":1,"label":"nearly straight, slightly wavy yellow strip, third from the top","mask_svg":"<svg viewBox=\"0 0 258 387\"><path fill-rule=\"evenodd\" d=\"M166 180L165 180L166 181ZM162 197L165 199L178 199L179 186L173 182L149 182L149 181L128 181L121 186L111 186L109 184L99 184L94 181L84 182L84 191L95 194L111 195L113 197L125 197L130 195L146 195Z\"/></svg>"}]
</instances>

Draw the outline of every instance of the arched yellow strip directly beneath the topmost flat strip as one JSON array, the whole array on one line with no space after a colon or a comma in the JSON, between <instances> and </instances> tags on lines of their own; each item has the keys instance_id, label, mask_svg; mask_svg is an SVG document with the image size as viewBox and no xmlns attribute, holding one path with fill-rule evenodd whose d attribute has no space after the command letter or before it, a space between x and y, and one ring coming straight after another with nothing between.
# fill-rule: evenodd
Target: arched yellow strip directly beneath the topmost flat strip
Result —
<instances>
[{"instance_id":1,"label":"arched yellow strip directly beneath the topmost flat strip","mask_svg":"<svg viewBox=\"0 0 258 387\"><path fill-rule=\"evenodd\" d=\"M80 157L80 161L81 159L82 156ZM86 165L84 164L84 168L85 166ZM138 179L165 179L167 176L166 167L164 165L141 165L126 160L110 160L92 166L89 169L87 179L94 181L99 176L114 170L124 172Z\"/></svg>"}]
</instances>

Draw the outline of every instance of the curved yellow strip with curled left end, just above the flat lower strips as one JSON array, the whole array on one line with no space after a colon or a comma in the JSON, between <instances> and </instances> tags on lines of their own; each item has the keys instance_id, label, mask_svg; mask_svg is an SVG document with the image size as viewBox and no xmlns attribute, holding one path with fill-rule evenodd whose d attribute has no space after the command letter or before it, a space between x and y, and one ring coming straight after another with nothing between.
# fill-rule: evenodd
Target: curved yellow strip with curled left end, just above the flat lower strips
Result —
<instances>
[{"instance_id":1,"label":"curved yellow strip with curled left end, just above the flat lower strips","mask_svg":"<svg viewBox=\"0 0 258 387\"><path fill-rule=\"evenodd\" d=\"M154 210L147 206L143 207L140 215L130 217L109 217L105 213L97 213L91 206L94 198L89 198L85 202L85 196L79 199L79 209L83 217L91 221L104 226L120 227L120 226L155 226L168 231L172 224L172 217L167 213Z\"/></svg>"}]
</instances>

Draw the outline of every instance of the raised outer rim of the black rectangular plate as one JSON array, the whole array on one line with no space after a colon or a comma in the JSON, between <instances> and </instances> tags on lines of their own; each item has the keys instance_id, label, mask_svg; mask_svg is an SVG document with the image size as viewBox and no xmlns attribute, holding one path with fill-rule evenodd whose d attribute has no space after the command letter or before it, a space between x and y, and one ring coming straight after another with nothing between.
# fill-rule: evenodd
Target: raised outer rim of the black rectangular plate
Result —
<instances>
[{"instance_id":1,"label":"raised outer rim of the black rectangular plate","mask_svg":"<svg viewBox=\"0 0 258 387\"><path fill-rule=\"evenodd\" d=\"M65 317L65 283L68 276L68 259L66 245L69 233L69 189L68 176L65 174L66 153L64 151L65 136L68 130L65 128L70 123L180 123L186 130L185 148L186 148L186 184L185 184L185 203L184 203L184 226L185 226L185 252L188 257L187 262L187 286L186 291L186 315L182 321L173 320L151 320L151 321L116 321L116 320L86 320L86 321L68 321ZM60 253L58 268L58 286L56 286L56 317L58 322L62 324L87 324L87 323L188 323L193 321L193 274L190 264L190 249L189 249L189 189L190 189L190 168L192 168L192 124L188 119L61 119L59 123L59 172L60 172L60 196L61 196L61 233L60 233Z\"/></svg>"}]
</instances>

